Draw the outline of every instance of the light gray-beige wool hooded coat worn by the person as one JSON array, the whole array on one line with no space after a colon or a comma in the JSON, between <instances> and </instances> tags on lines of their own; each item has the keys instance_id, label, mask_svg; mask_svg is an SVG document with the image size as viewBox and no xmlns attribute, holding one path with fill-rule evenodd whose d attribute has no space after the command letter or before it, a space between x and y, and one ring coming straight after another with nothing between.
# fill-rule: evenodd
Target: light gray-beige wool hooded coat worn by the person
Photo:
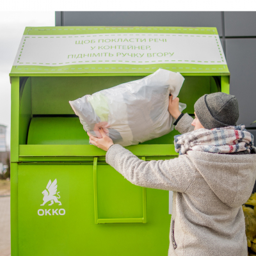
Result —
<instances>
[{"instance_id":1,"label":"light gray-beige wool hooded coat worn by the person","mask_svg":"<svg viewBox=\"0 0 256 256\"><path fill-rule=\"evenodd\" d=\"M175 129L189 132L192 121L186 114ZM113 145L106 162L132 184L173 191L169 256L248 255L241 205L252 193L256 154L190 150L175 159L145 162Z\"/></svg>"}]
</instances>

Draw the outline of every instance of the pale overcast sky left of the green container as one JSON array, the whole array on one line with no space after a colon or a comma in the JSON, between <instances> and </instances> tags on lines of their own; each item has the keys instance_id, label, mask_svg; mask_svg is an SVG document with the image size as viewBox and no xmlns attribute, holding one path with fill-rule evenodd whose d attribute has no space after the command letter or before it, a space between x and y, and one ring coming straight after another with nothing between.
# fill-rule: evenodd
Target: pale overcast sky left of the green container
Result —
<instances>
[{"instance_id":1,"label":"pale overcast sky left of the green container","mask_svg":"<svg viewBox=\"0 0 256 256\"><path fill-rule=\"evenodd\" d=\"M7 126L8 148L11 123L9 73L26 26L55 26L55 12L0 12L0 124Z\"/></svg>"}]
</instances>

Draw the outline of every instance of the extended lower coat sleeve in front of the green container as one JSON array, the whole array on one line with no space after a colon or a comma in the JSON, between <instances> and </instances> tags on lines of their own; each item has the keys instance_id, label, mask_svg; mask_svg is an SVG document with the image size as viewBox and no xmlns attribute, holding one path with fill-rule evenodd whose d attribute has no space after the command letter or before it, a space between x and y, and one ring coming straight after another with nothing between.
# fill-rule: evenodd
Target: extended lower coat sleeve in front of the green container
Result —
<instances>
[{"instance_id":1,"label":"extended lower coat sleeve in front of the green container","mask_svg":"<svg viewBox=\"0 0 256 256\"><path fill-rule=\"evenodd\" d=\"M184 193L195 177L195 166L186 155L170 160L143 161L115 144L106 162L134 185Z\"/></svg>"}]
</instances>

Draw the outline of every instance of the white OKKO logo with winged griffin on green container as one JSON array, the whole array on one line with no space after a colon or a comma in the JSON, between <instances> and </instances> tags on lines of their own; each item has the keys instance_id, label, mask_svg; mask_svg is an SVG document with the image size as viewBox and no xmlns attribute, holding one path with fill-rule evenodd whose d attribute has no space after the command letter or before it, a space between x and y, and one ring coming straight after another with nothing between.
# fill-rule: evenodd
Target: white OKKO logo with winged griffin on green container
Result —
<instances>
[{"instance_id":1,"label":"white OKKO logo with winged griffin on green container","mask_svg":"<svg viewBox=\"0 0 256 256\"><path fill-rule=\"evenodd\" d=\"M61 202L58 200L60 199L60 195L57 192L57 179L55 179L53 182L51 182L51 180L49 180L46 189L44 189L44 191L42 192L42 194L44 195L44 203L41 205L45 205L47 202L51 201L51 203L49 205L52 205L54 203L61 205ZM56 196L58 195L58 197ZM39 216L44 216L44 215L65 215L66 211L65 209L39 209L37 211L37 214Z\"/></svg>"}]
</instances>

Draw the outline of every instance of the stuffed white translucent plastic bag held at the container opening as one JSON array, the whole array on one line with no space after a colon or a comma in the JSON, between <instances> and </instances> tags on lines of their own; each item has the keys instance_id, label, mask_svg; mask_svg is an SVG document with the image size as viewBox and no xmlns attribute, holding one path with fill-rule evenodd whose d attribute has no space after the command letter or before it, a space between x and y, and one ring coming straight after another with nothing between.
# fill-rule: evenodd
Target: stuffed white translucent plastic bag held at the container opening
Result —
<instances>
[{"instance_id":1,"label":"stuffed white translucent plastic bag held at the container opening","mask_svg":"<svg viewBox=\"0 0 256 256\"><path fill-rule=\"evenodd\" d=\"M180 92L184 77L159 69L143 79L70 101L85 131L101 138L99 127L122 146L136 145L168 134L173 117L168 112L169 93ZM180 111L186 104L180 103Z\"/></svg>"}]
</instances>

